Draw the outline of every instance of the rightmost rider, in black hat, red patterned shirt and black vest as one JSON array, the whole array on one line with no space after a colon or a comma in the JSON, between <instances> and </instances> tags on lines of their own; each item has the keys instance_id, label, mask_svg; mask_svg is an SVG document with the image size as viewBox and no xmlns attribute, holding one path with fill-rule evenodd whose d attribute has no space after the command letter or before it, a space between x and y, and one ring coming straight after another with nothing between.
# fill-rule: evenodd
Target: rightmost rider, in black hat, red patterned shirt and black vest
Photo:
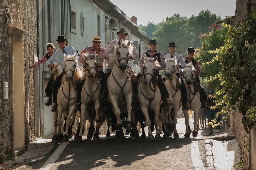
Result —
<instances>
[{"instance_id":1,"label":"rightmost rider, in black hat, red patterned shirt and black vest","mask_svg":"<svg viewBox=\"0 0 256 170\"><path fill-rule=\"evenodd\" d=\"M195 50L193 47L189 47L186 52L187 52L188 57L185 58L185 63L190 63L190 62L193 63L193 66L195 67L194 75L195 75L196 81L199 84L201 84L200 78L199 78L200 71L201 71L200 65L199 65L198 61L193 58L193 56L195 54ZM202 87L203 87L203 85L202 85ZM201 101L202 108L206 107L205 100L207 100L207 94L203 87L200 89L200 101Z\"/></svg>"}]
</instances>

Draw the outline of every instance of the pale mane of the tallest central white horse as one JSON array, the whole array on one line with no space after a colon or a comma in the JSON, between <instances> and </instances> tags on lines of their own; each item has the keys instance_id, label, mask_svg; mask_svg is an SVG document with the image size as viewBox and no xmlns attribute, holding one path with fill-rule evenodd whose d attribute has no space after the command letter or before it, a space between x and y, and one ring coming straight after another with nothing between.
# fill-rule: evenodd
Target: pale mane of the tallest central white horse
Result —
<instances>
[{"instance_id":1,"label":"pale mane of the tallest central white horse","mask_svg":"<svg viewBox=\"0 0 256 170\"><path fill-rule=\"evenodd\" d=\"M127 47L127 49L129 50L129 53L132 54L133 46L132 45L127 45L128 42L129 42L128 40L124 40L124 41L121 41L121 44L119 46L118 46L118 44L115 44L114 54L108 61L108 70L109 71L112 71L112 69L114 67L115 61L117 59L117 50L118 50L119 47L121 47L121 46Z\"/></svg>"}]
</instances>

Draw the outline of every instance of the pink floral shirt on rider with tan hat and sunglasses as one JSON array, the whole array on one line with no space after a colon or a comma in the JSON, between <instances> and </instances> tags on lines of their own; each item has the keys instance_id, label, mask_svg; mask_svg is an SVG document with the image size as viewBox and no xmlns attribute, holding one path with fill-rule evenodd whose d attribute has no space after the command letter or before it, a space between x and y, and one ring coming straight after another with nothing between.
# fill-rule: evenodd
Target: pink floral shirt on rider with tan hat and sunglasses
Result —
<instances>
[{"instance_id":1,"label":"pink floral shirt on rider with tan hat and sunglasses","mask_svg":"<svg viewBox=\"0 0 256 170\"><path fill-rule=\"evenodd\" d=\"M93 54L95 52L94 47L93 46L89 46L86 47L82 50L80 56L79 56L79 62L80 63L84 63L84 58L82 56L82 53L86 53L88 52L89 54ZM97 62L97 71L103 71L103 66L104 66L104 58L106 59L106 61L108 61L108 58L105 57L105 52L106 49L100 47L100 51L98 52L98 55L96 56L96 62Z\"/></svg>"}]
</instances>

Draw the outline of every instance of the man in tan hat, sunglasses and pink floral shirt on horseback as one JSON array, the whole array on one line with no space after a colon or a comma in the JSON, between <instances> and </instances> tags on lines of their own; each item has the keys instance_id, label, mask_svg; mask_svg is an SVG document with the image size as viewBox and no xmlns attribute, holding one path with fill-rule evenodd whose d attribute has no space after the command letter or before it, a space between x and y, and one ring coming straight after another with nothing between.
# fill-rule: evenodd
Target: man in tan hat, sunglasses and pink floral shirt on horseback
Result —
<instances>
[{"instance_id":1,"label":"man in tan hat, sunglasses and pink floral shirt on horseback","mask_svg":"<svg viewBox=\"0 0 256 170\"><path fill-rule=\"evenodd\" d=\"M105 56L105 52L106 52L106 49L105 48L102 48L100 46L100 43L102 42L102 40L100 39L100 36L96 35L93 37L92 39L92 46L88 46L86 48L84 48L79 56L79 62L80 63L84 63L84 58L82 56L82 53L84 54L93 54L94 52L96 52L97 56L96 56L96 62L97 62L97 70L96 70L96 74L98 75L99 78L102 77L102 75L104 75L104 71L103 71L103 66L104 66L104 59L106 61L108 61L108 58L106 58ZM81 100L81 90L82 90L82 86L81 84L83 84L84 82L80 82L80 79L79 81L77 82L77 91L78 91L78 104L80 105L80 100ZM80 109L78 109L79 111Z\"/></svg>"}]
</instances>

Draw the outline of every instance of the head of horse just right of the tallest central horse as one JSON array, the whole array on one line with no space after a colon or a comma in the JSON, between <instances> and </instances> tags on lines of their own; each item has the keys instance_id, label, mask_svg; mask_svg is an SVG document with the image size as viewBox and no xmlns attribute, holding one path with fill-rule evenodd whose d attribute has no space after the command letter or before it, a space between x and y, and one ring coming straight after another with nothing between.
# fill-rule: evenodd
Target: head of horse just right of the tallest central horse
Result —
<instances>
[{"instance_id":1,"label":"head of horse just right of the tallest central horse","mask_svg":"<svg viewBox=\"0 0 256 170\"><path fill-rule=\"evenodd\" d=\"M146 54L144 54L144 65L143 65L143 83L145 85L149 85L151 83L151 79L153 74L156 71L156 61L157 57L155 58L148 58Z\"/></svg>"}]
</instances>

